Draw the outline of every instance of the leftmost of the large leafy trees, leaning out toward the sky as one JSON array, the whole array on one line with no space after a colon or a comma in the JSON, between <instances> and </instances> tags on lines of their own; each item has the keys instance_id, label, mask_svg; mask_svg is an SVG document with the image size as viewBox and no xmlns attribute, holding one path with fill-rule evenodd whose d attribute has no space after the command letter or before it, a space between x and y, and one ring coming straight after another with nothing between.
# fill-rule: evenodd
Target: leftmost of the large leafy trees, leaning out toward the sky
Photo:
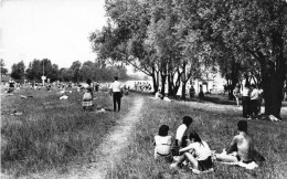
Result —
<instances>
[{"instance_id":1,"label":"leftmost of the large leafy trees, leaning out toward the sky","mask_svg":"<svg viewBox=\"0 0 287 179\"><path fill-rule=\"evenodd\" d=\"M114 64L129 64L152 77L158 88L155 51L146 43L150 21L149 3L137 0L106 1L109 23L91 35L93 50L99 60ZM113 24L113 25L111 25Z\"/></svg>"}]
</instances>

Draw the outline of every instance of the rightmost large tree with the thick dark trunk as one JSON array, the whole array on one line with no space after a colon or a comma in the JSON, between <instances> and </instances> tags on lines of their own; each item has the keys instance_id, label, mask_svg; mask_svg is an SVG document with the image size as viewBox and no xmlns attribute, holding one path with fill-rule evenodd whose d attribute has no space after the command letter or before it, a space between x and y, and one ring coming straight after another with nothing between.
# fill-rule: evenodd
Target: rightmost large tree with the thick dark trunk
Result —
<instances>
[{"instance_id":1,"label":"rightmost large tree with the thick dark trunk","mask_svg":"<svg viewBox=\"0 0 287 179\"><path fill-rule=\"evenodd\" d=\"M242 56L242 63L248 61L251 66L247 71L261 71L261 82L265 92L265 114L280 117L283 87L287 73L287 2L285 0L216 2L221 3L219 7L227 7L228 10L227 14L220 13L217 10L220 8L215 6L213 15L216 21L213 30L222 32L220 38L232 53Z\"/></svg>"}]
</instances>

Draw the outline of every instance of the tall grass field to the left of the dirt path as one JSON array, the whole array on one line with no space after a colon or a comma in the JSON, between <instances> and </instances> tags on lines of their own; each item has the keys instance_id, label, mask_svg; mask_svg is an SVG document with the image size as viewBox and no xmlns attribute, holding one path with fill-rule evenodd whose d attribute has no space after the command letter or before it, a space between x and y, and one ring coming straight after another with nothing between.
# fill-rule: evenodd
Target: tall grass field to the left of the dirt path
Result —
<instances>
[{"instance_id":1,"label":"tall grass field to the left of the dirt path","mask_svg":"<svg viewBox=\"0 0 287 179\"><path fill-rule=\"evenodd\" d=\"M132 97L125 96L120 113L84 113L83 93L75 91L66 101L59 99L63 94L43 90L13 94L1 96L1 170L15 177L95 160L104 136L132 105ZM110 96L95 96L94 108L113 109ZM10 115L14 110L24 113Z\"/></svg>"}]
</instances>

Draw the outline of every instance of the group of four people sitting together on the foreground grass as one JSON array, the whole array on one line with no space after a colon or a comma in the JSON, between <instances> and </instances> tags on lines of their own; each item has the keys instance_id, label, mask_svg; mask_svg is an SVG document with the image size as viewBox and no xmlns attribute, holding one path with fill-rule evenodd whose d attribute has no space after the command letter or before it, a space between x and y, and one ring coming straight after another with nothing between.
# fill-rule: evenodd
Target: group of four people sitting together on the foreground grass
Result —
<instances>
[{"instance_id":1,"label":"group of four people sitting together on the foreground grass","mask_svg":"<svg viewBox=\"0 0 287 179\"><path fill-rule=\"evenodd\" d=\"M224 149L222 154L213 154L206 141L202 140L196 131L192 130L189 135L185 135L192 122L193 119L190 116L183 117L183 123L177 129L174 147L172 147L172 137L168 134L169 126L160 126L159 133L155 136L153 141L156 146L155 159L163 157L168 159L168 161L176 161L170 166L173 169L185 164L194 173L212 171L213 160L237 164L243 167L254 161L254 145L247 134L246 120L240 120L237 123L240 133L233 138L230 148L227 150ZM179 149L179 154L176 156L173 151L174 148ZM255 162L253 164L253 168L258 167Z\"/></svg>"}]
</instances>

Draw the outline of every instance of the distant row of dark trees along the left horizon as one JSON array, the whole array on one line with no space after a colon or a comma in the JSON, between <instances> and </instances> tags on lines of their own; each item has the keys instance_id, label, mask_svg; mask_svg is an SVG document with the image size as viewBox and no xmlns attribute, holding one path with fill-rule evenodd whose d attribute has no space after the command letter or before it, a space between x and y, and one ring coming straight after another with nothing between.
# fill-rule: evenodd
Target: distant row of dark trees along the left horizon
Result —
<instances>
[{"instance_id":1,"label":"distant row of dark trees along the left horizon","mask_svg":"<svg viewBox=\"0 0 287 179\"><path fill-rule=\"evenodd\" d=\"M1 63L4 64L3 61L1 61ZM43 75L46 76L46 78L50 78L50 82L85 82L87 78L107 82L113 81L115 75L119 76L121 80L128 78L125 66L107 66L106 64L96 61L86 61L83 64L79 61L75 61L70 67L59 69L59 66L52 64L49 59L43 59L33 60L28 67L25 67L23 61L21 61L13 64L11 69L11 77L18 81L30 80L41 82L41 76Z\"/></svg>"}]
</instances>

